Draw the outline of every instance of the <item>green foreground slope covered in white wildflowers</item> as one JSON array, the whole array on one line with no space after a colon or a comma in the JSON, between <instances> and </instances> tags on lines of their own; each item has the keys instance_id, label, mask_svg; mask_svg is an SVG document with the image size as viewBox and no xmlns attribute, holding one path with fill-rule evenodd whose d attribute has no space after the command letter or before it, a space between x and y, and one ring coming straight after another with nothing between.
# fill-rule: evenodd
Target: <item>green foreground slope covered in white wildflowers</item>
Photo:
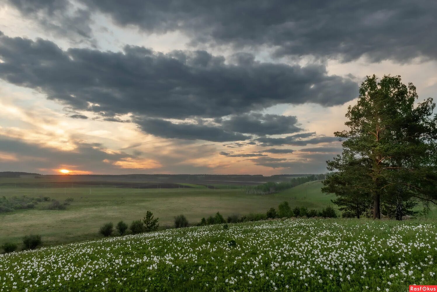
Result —
<instances>
[{"instance_id":1,"label":"green foreground slope covered in white wildflowers","mask_svg":"<svg viewBox=\"0 0 437 292\"><path fill-rule=\"evenodd\" d=\"M0 255L0 291L407 291L436 285L435 222L287 219Z\"/></svg>"}]
</instances>

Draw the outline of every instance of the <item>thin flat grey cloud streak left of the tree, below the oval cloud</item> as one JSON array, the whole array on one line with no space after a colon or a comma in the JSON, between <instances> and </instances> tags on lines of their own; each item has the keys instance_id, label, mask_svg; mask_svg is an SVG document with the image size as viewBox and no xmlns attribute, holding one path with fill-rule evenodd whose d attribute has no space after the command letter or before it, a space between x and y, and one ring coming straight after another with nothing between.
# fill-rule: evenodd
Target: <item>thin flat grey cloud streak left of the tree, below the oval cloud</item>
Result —
<instances>
[{"instance_id":1,"label":"thin flat grey cloud streak left of the tree, below the oval cloud","mask_svg":"<svg viewBox=\"0 0 437 292\"><path fill-rule=\"evenodd\" d=\"M264 146L264 147L282 146L282 145L306 146L308 144L319 144L319 143L329 143L329 142L338 141L337 137L329 137L329 136L320 136L320 137L314 137L311 139L302 140L302 138L308 138L315 134L316 134L315 132L302 133L302 134L287 136L284 138L260 137L255 140L261 143L260 146Z\"/></svg>"}]
</instances>

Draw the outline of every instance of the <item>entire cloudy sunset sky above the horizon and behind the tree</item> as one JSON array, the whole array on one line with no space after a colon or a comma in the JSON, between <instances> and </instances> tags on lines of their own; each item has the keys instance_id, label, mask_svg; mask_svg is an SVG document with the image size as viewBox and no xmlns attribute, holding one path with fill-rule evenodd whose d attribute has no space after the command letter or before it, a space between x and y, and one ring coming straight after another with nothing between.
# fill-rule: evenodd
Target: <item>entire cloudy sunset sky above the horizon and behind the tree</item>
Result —
<instances>
[{"instance_id":1,"label":"entire cloudy sunset sky above the horizon and behind the tree","mask_svg":"<svg viewBox=\"0 0 437 292\"><path fill-rule=\"evenodd\" d=\"M437 97L434 0L0 0L0 171L311 174L366 76Z\"/></svg>"}]
</instances>

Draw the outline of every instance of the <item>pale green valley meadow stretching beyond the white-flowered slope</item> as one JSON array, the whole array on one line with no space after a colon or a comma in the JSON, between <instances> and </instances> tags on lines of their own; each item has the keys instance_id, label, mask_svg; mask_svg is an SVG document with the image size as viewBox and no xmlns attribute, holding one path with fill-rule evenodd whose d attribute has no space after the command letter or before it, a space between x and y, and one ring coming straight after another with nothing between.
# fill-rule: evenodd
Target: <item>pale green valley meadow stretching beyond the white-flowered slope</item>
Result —
<instances>
[{"instance_id":1,"label":"pale green valley meadow stretching beyond the white-flowered slope","mask_svg":"<svg viewBox=\"0 0 437 292\"><path fill-rule=\"evenodd\" d=\"M0 197L44 197L64 202L74 201L66 210L47 210L50 202L41 202L34 209L0 213L0 244L21 243L24 235L42 236L43 244L69 243L100 237L98 229L105 222L124 220L128 224L142 219L147 210L159 217L161 226L173 225L174 216L184 214L189 222L220 212L225 218L232 214L266 212L283 201L291 207L322 209L333 195L320 192L321 182L314 181L271 195L246 195L243 185L180 184L180 188L135 188L138 183L77 182L58 184L35 179L3 178ZM124 187L120 187L124 186ZM132 186L132 188L130 187ZM191 187L191 188L188 188Z\"/></svg>"}]
</instances>

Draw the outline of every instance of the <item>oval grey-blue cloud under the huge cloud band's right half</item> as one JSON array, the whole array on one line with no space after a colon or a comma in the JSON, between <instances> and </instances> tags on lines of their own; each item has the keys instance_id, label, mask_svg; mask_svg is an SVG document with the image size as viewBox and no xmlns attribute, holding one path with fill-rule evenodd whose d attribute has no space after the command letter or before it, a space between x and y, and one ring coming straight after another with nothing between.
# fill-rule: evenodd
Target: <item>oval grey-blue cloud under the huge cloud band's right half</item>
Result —
<instances>
[{"instance_id":1,"label":"oval grey-blue cloud under the huge cloud band's right half","mask_svg":"<svg viewBox=\"0 0 437 292\"><path fill-rule=\"evenodd\" d=\"M300 132L303 129L297 123L295 116L249 113L223 120L222 126L234 132L264 136Z\"/></svg>"}]
</instances>

